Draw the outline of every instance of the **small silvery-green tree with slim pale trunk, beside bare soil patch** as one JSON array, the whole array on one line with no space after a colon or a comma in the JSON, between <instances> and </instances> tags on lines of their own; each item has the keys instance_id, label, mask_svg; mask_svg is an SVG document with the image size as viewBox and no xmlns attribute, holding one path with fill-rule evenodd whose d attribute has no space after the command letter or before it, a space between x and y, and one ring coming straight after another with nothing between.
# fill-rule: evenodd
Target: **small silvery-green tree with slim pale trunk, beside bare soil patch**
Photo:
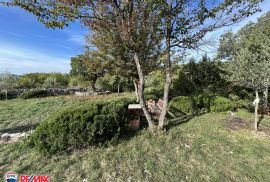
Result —
<instances>
[{"instance_id":1,"label":"small silvery-green tree with slim pale trunk, beside bare soil patch","mask_svg":"<svg viewBox=\"0 0 270 182\"><path fill-rule=\"evenodd\" d=\"M234 59L226 64L225 78L239 86L253 89L256 94L255 99L255 130L258 127L258 92L269 84L270 78L270 47L261 50L260 53L251 52L247 48L237 52Z\"/></svg>"}]
</instances>

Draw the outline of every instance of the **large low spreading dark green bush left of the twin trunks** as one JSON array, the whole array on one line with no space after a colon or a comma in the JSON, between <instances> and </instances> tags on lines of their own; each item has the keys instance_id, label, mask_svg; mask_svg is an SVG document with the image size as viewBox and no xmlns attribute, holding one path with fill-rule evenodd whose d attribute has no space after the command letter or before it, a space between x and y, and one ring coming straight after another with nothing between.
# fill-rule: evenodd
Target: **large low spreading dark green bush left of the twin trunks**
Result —
<instances>
[{"instance_id":1,"label":"large low spreading dark green bush left of the twin trunks","mask_svg":"<svg viewBox=\"0 0 270 182\"><path fill-rule=\"evenodd\" d=\"M53 154L114 140L127 128L127 101L131 99L66 108L41 123L30 136L30 144Z\"/></svg>"}]
</instances>

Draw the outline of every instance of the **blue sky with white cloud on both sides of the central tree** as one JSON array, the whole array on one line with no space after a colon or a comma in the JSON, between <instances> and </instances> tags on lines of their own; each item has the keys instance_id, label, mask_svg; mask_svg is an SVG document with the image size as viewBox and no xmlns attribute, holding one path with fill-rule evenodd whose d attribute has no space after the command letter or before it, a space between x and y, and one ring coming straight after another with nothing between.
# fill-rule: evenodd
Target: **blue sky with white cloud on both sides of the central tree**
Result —
<instances>
[{"instance_id":1,"label":"blue sky with white cloud on both sides of the central tree","mask_svg":"<svg viewBox=\"0 0 270 182\"><path fill-rule=\"evenodd\" d=\"M214 54L218 38L225 31L236 32L249 21L270 11L270 0L261 5L262 12L231 27L220 29L206 36L214 40L212 46L204 49ZM87 29L79 22L60 29L47 29L37 18L16 7L0 6L0 70L14 74L30 72L62 72L70 70L70 58L83 51ZM214 45L215 44L215 45ZM191 52L199 56L202 52Z\"/></svg>"}]
</instances>

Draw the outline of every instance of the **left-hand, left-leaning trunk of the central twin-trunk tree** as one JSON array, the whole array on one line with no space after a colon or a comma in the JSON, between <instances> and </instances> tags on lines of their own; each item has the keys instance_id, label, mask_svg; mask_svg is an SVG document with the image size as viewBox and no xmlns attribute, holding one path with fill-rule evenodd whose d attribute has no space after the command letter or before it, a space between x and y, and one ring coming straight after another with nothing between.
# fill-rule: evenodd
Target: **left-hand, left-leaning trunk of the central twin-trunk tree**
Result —
<instances>
[{"instance_id":1,"label":"left-hand, left-leaning trunk of the central twin-trunk tree","mask_svg":"<svg viewBox=\"0 0 270 182\"><path fill-rule=\"evenodd\" d=\"M143 94L143 90L144 90L144 75L143 75L143 71L142 71L142 68L141 68L141 64L140 64L140 60L139 60L139 57L137 55L137 53L134 54L134 60L135 60L135 63L136 63L136 67L137 67L137 71L138 71L138 75L139 75L139 86L138 86L138 95L139 95L139 100L140 100L140 104L142 106L142 110L143 110L143 113L146 117L146 120L148 122L148 125L149 125L149 128L151 130L153 130L155 124L154 122L152 121L152 118L147 110L147 107L146 107L146 104L145 104L145 100L144 100L144 94Z\"/></svg>"}]
</instances>

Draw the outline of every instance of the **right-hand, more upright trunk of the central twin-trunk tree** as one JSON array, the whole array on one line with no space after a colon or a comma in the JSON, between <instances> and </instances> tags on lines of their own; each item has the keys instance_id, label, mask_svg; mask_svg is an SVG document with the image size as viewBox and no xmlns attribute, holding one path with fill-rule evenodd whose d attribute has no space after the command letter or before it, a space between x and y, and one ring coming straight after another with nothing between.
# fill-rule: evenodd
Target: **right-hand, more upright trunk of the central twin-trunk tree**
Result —
<instances>
[{"instance_id":1,"label":"right-hand, more upright trunk of the central twin-trunk tree","mask_svg":"<svg viewBox=\"0 0 270 182\"><path fill-rule=\"evenodd\" d=\"M159 116L158 125L162 129L164 127L165 117L168 110L168 100L169 100L169 91L172 83L171 78L171 19L168 18L167 30L166 30L166 54L167 58L165 61L165 72L166 72L166 81L164 85L164 94L163 94L163 107L161 114Z\"/></svg>"}]
</instances>

